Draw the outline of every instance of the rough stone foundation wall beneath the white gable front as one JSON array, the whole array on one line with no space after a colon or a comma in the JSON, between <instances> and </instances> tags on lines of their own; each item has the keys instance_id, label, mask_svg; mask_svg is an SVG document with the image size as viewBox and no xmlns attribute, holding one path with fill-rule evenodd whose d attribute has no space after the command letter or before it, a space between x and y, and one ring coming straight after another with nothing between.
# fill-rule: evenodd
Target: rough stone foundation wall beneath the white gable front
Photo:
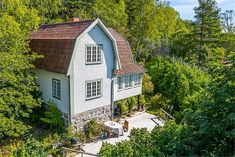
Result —
<instances>
[{"instance_id":1,"label":"rough stone foundation wall beneath the white gable front","mask_svg":"<svg viewBox=\"0 0 235 157\"><path fill-rule=\"evenodd\" d=\"M96 119L97 122L103 123L111 119L111 108L110 105L95 108L86 112L82 112L72 116L72 126L75 130L79 130L92 119Z\"/></svg>"}]
</instances>

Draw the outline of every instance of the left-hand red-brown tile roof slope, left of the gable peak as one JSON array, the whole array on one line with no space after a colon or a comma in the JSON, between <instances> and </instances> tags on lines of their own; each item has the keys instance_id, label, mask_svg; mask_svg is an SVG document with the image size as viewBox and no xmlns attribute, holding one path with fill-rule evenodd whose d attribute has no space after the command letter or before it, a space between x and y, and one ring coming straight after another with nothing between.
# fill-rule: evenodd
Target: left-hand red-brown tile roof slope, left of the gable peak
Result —
<instances>
[{"instance_id":1,"label":"left-hand red-brown tile roof slope, left of the gable peak","mask_svg":"<svg viewBox=\"0 0 235 157\"><path fill-rule=\"evenodd\" d=\"M42 25L31 33L30 48L44 56L35 61L35 67L66 74L72 57L76 38L94 20Z\"/></svg>"}]
</instances>

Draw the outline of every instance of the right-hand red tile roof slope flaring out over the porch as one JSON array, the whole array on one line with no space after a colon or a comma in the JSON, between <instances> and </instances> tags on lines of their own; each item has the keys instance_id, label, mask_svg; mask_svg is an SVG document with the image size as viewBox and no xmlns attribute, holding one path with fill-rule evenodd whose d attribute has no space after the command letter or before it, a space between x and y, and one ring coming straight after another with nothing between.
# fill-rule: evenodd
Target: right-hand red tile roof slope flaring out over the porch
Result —
<instances>
[{"instance_id":1,"label":"right-hand red tile roof slope flaring out over the porch","mask_svg":"<svg viewBox=\"0 0 235 157\"><path fill-rule=\"evenodd\" d=\"M115 74L123 75L132 73L142 73L144 69L133 61L132 52L130 50L130 45L128 41L114 29L108 28L108 30L116 40L119 58L121 62L121 69L116 70Z\"/></svg>"}]
</instances>

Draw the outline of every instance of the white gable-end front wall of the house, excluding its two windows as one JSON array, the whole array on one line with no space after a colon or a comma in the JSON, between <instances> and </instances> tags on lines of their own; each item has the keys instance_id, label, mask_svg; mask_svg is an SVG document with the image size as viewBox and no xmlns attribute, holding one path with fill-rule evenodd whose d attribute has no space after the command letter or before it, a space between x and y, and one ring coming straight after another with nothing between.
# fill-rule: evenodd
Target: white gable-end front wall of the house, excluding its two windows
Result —
<instances>
[{"instance_id":1,"label":"white gable-end front wall of the house, excluding its two windows","mask_svg":"<svg viewBox=\"0 0 235 157\"><path fill-rule=\"evenodd\" d=\"M86 65L87 44L103 45L101 64ZM111 104L111 80L114 61L115 55L111 40L98 25L77 39L71 68L68 72L71 76L73 115ZM102 96L86 100L86 81L96 79L102 79Z\"/></svg>"}]
</instances>

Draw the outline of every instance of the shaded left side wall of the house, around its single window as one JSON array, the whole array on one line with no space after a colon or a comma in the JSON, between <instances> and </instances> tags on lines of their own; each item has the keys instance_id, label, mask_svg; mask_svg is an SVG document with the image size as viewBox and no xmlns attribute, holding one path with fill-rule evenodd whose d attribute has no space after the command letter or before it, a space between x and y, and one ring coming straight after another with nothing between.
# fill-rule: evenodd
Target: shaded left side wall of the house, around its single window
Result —
<instances>
[{"instance_id":1,"label":"shaded left side wall of the house, around its single window","mask_svg":"<svg viewBox=\"0 0 235 157\"><path fill-rule=\"evenodd\" d=\"M69 79L67 76L45 70L33 70L37 76L37 83L46 102L54 102L57 107L64 113L69 114ZM52 96L52 78L60 80L61 98L57 99Z\"/></svg>"}]
</instances>

